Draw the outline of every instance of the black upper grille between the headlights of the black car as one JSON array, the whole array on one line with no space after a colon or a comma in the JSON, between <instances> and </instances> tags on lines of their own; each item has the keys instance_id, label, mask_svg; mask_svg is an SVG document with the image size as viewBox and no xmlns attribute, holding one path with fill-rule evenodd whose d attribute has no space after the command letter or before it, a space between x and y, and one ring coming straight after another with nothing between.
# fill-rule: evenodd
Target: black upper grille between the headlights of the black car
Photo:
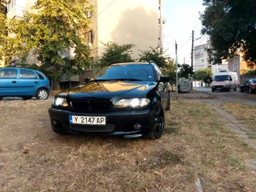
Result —
<instances>
[{"instance_id":1,"label":"black upper grille between the headlights of the black car","mask_svg":"<svg viewBox=\"0 0 256 192\"><path fill-rule=\"evenodd\" d=\"M83 112L99 112L112 109L111 99L71 99L71 106Z\"/></svg>"}]
</instances>

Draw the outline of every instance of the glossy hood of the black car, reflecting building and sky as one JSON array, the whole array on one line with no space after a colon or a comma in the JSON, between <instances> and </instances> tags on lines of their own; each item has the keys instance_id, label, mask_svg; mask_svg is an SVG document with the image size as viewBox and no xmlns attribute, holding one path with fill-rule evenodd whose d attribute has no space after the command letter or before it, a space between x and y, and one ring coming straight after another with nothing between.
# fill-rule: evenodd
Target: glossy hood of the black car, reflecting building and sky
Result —
<instances>
[{"instance_id":1,"label":"glossy hood of the black car, reflecting building and sky","mask_svg":"<svg viewBox=\"0 0 256 192\"><path fill-rule=\"evenodd\" d=\"M74 97L144 97L144 95L156 86L153 81L92 81L81 84L61 96Z\"/></svg>"}]
</instances>

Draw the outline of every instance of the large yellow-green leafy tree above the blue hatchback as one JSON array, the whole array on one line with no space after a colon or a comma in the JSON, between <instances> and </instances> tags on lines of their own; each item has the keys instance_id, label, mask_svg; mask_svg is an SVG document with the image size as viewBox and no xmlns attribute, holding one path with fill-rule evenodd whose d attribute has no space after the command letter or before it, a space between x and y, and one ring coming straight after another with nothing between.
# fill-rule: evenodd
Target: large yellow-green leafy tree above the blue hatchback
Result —
<instances>
[{"instance_id":1,"label":"large yellow-green leafy tree above the blue hatchback","mask_svg":"<svg viewBox=\"0 0 256 192\"><path fill-rule=\"evenodd\" d=\"M33 12L8 22L8 30L15 37L5 38L5 55L26 63L33 53L42 65L52 69L54 80L61 80L63 74L80 74L80 68L90 63L90 52L79 33L88 30L91 20L85 13L93 11L93 6L88 0L37 0L31 8ZM73 57L66 57L64 53L70 50Z\"/></svg>"}]
</instances>

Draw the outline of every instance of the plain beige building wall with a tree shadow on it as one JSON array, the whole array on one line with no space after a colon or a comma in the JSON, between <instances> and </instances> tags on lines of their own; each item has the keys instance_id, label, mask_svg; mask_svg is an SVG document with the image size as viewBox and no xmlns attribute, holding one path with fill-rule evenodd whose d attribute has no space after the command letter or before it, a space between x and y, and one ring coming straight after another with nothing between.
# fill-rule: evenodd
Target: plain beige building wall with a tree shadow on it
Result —
<instances>
[{"instance_id":1,"label":"plain beige building wall with a tree shadow on it","mask_svg":"<svg viewBox=\"0 0 256 192\"><path fill-rule=\"evenodd\" d=\"M94 61L104 51L101 42L134 44L133 59L138 59L139 50L159 46L158 0L91 0L91 4L96 5L89 41Z\"/></svg>"}]
</instances>

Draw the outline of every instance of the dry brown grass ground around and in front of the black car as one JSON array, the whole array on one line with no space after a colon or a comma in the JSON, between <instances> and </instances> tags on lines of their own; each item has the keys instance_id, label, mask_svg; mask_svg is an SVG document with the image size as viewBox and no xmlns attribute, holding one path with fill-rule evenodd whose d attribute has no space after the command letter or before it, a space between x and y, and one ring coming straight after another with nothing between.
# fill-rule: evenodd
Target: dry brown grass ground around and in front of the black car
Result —
<instances>
[{"instance_id":1,"label":"dry brown grass ground around and in front of the black car","mask_svg":"<svg viewBox=\"0 0 256 192\"><path fill-rule=\"evenodd\" d=\"M210 106L172 101L160 140L58 135L50 101L0 101L5 191L253 191L256 151Z\"/></svg>"}]
</instances>

